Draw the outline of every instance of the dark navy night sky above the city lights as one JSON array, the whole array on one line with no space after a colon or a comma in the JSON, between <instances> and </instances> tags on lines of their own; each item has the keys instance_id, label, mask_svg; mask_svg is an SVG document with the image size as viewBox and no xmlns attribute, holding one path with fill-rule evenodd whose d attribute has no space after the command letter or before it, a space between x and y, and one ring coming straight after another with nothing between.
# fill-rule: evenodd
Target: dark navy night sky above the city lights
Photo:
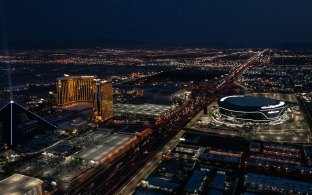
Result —
<instances>
[{"instance_id":1,"label":"dark navy night sky above the city lights","mask_svg":"<svg viewBox=\"0 0 312 195\"><path fill-rule=\"evenodd\" d=\"M312 0L0 0L0 48L312 45Z\"/></svg>"}]
</instances>

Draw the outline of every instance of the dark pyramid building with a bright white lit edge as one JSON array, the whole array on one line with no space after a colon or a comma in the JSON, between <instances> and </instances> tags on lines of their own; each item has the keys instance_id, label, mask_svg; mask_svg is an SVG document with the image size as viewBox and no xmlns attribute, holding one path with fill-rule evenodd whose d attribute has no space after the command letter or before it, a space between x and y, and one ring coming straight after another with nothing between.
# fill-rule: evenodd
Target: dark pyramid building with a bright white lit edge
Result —
<instances>
[{"instance_id":1,"label":"dark pyramid building with a bright white lit edge","mask_svg":"<svg viewBox=\"0 0 312 195\"><path fill-rule=\"evenodd\" d=\"M56 126L10 101L0 110L0 144L14 147Z\"/></svg>"}]
</instances>

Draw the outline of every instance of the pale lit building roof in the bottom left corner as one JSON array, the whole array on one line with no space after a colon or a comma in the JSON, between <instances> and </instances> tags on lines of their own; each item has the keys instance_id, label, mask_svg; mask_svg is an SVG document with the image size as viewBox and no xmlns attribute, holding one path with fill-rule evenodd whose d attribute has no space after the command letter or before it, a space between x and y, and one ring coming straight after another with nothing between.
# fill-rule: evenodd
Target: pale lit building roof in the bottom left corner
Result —
<instances>
[{"instance_id":1,"label":"pale lit building roof in the bottom left corner","mask_svg":"<svg viewBox=\"0 0 312 195\"><path fill-rule=\"evenodd\" d=\"M23 195L42 184L40 179L14 174L0 181L0 194Z\"/></svg>"}]
</instances>

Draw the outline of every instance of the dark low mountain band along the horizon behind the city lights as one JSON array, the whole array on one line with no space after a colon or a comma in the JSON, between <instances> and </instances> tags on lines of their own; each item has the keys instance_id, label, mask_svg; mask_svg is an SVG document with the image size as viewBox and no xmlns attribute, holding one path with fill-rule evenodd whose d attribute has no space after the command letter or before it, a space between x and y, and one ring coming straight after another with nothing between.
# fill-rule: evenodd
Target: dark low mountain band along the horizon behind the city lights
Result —
<instances>
[{"instance_id":1,"label":"dark low mountain band along the horizon behind the city lights","mask_svg":"<svg viewBox=\"0 0 312 195\"><path fill-rule=\"evenodd\" d=\"M293 49L293 50L311 50L311 43L281 43L281 44L226 44L226 43L187 43L187 44L155 44L143 43L140 41L129 40L99 40L99 41L81 41L81 42L49 42L49 43L11 43L3 47L0 42L0 52L40 50L40 49L175 49L175 48L207 48L207 49L244 49L244 48L272 48L272 49Z\"/></svg>"}]
</instances>

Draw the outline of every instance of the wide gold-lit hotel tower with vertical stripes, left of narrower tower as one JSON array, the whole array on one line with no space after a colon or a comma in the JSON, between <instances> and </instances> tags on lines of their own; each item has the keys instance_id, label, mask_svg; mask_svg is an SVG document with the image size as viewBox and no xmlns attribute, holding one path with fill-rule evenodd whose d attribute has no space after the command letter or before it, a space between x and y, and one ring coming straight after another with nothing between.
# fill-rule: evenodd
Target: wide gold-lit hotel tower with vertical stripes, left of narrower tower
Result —
<instances>
[{"instance_id":1,"label":"wide gold-lit hotel tower with vertical stripes, left of narrower tower","mask_svg":"<svg viewBox=\"0 0 312 195\"><path fill-rule=\"evenodd\" d=\"M65 76L57 79L57 104L68 106L92 102L95 76Z\"/></svg>"}]
</instances>

